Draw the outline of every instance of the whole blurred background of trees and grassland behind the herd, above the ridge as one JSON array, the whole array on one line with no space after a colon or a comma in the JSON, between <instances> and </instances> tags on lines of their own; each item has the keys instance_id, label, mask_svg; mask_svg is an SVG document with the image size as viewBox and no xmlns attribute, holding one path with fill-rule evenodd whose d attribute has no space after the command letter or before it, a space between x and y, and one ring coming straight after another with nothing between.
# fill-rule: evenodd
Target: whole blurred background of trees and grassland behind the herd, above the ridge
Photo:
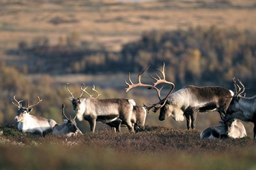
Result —
<instances>
[{"instance_id":1,"label":"whole blurred background of trees and grassland behind the herd, above the ridge","mask_svg":"<svg viewBox=\"0 0 256 170\"><path fill-rule=\"evenodd\" d=\"M175 90L195 86L234 89L232 78L242 80L246 97L256 95L255 1L12 1L0 0L0 124L17 124L11 102L35 103L32 115L61 119L75 116L68 100L81 95L81 83L95 85L98 99L129 97L156 103L154 90L129 92L128 73L137 75L151 65L154 75L165 63L167 80ZM145 73L142 82L154 82ZM165 86L162 98L171 87ZM91 92L94 94L94 92ZM83 97L87 97L83 95ZM186 129L186 122L158 114L147 115L147 125ZM196 129L217 126L218 113L199 113ZM83 133L87 121L79 122ZM253 123L243 122L248 135ZM96 129L109 128L98 123ZM127 131L127 128L122 128Z\"/></svg>"}]
</instances>

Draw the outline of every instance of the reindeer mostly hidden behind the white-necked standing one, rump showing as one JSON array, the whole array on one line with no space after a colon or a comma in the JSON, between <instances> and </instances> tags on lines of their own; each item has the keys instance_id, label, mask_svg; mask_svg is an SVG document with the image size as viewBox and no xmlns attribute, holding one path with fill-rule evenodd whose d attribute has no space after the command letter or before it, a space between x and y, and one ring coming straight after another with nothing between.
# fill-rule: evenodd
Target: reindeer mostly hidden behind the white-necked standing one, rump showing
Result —
<instances>
[{"instance_id":1,"label":"reindeer mostly hidden behind the white-necked standing one, rump showing","mask_svg":"<svg viewBox=\"0 0 256 170\"><path fill-rule=\"evenodd\" d=\"M147 108L145 106L134 105L132 109L131 122L134 126L134 131L143 131L144 124L147 116ZM116 132L120 132L122 126L122 120L117 118L113 122L107 122L109 126L113 127Z\"/></svg>"}]
</instances>

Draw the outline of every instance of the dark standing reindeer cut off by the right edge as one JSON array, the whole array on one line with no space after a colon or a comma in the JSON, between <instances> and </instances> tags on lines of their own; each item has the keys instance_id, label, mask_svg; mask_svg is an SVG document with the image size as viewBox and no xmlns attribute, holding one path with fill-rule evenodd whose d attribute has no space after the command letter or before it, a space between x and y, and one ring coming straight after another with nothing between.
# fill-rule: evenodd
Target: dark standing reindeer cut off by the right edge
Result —
<instances>
[{"instance_id":1,"label":"dark standing reindeer cut off by the right edge","mask_svg":"<svg viewBox=\"0 0 256 170\"><path fill-rule=\"evenodd\" d=\"M233 78L233 85L235 86L235 95L233 96L227 114L224 121L227 122L230 119L237 118L245 122L253 122L254 128L254 139L256 139L256 96L254 97L243 97L242 93L245 88L240 80L238 80L241 87L236 83ZM238 90L237 90L238 87Z\"/></svg>"}]
</instances>

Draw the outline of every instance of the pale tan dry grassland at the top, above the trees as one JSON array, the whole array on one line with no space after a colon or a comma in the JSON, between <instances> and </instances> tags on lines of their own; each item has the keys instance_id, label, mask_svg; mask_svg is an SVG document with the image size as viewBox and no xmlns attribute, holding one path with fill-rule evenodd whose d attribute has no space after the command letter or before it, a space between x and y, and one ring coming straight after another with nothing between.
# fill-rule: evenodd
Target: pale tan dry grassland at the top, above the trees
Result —
<instances>
[{"instance_id":1,"label":"pale tan dry grassland at the top, above the trees","mask_svg":"<svg viewBox=\"0 0 256 170\"><path fill-rule=\"evenodd\" d=\"M108 3L106 3L108 2ZM82 40L96 41L109 50L120 50L122 44L138 39L151 29L186 29L188 27L218 27L255 29L253 1L161 1L144 3L3 3L1 7L1 50L14 48L18 41L31 41L46 36L57 44L61 36L73 31ZM63 22L53 24L51 20Z\"/></svg>"}]
</instances>

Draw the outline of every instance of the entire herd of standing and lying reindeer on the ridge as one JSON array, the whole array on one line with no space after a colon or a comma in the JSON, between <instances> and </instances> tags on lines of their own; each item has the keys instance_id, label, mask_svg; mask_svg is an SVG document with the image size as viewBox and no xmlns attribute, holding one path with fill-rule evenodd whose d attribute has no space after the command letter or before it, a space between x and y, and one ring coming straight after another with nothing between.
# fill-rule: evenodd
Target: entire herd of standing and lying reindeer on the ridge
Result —
<instances>
[{"instance_id":1,"label":"entire herd of standing and lying reindeer on the ridge","mask_svg":"<svg viewBox=\"0 0 256 170\"><path fill-rule=\"evenodd\" d=\"M150 67L150 66L149 66ZM195 122L198 112L218 112L221 116L221 126L211 126L205 129L200 137L201 138L241 138L246 136L246 130L242 122L254 123L254 139L256 139L256 96L245 97L245 87L240 80L239 84L236 83L233 78L233 85L235 86L235 92L228 90L220 86L186 86L176 92L173 92L175 84L166 80L165 76L165 63L162 67L162 71L157 69L161 76L156 73L156 77L150 75L150 78L154 80L153 84L143 84L141 77L147 67L138 75L138 82L134 84L130 79L130 73L126 92L136 87L146 87L148 89L156 90L158 96L158 103L150 103L150 106L136 105L133 99L97 99L100 94L95 89L95 86L91 90L97 93L97 97L93 97L86 91L88 88L85 84L81 86L81 95L76 98L73 96L73 92L68 89L68 83L66 88L71 97L68 97L72 103L72 107L76 112L74 118L68 118L64 113L65 105L62 105L62 118L63 123L57 124L55 120L42 118L40 116L32 116L30 112L32 107L38 105L42 99L38 97L38 102L23 107L22 101L17 101L14 96L12 103L18 107L18 114L14 118L18 122L18 130L23 133L39 133L45 135L51 133L53 135L83 135L83 133L76 126L75 119L79 121L87 120L91 129L91 133L94 133L96 128L96 122L103 122L111 126L113 131L119 132L121 126L127 126L130 132L138 132L144 130L145 118L152 109L153 112L158 112L160 109L159 120L163 121L167 117L171 116L175 121L183 121L186 119L187 129L195 129ZM162 78L161 78L162 77ZM168 94L161 99L159 84L171 85L171 90ZM89 95L88 98L83 97L83 92ZM172 93L173 92L173 93ZM16 102L16 103L14 103ZM154 109L153 109L154 108Z\"/></svg>"}]
</instances>

